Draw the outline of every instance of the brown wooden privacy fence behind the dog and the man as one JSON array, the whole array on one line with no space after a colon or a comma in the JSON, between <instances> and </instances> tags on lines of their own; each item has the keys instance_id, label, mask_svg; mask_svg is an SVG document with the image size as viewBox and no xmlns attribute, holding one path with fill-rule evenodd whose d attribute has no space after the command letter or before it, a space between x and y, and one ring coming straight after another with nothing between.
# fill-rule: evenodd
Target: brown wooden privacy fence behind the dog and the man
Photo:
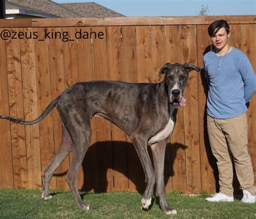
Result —
<instances>
[{"instance_id":1,"label":"brown wooden privacy fence behind the dog and the man","mask_svg":"<svg viewBox=\"0 0 256 219\"><path fill-rule=\"evenodd\" d=\"M211 49L207 27L221 18L231 24L231 45L245 52L256 69L255 16L0 20L0 115L35 119L78 81L158 82L166 62L203 66L203 54ZM167 192L216 189L218 173L206 132L206 92L204 73L191 72L184 94L187 104L178 110L166 148ZM255 96L247 116L255 178ZM61 135L56 109L32 126L0 119L0 188L41 187L43 168L57 152ZM68 189L65 174L71 159L72 153L57 168L51 188ZM236 181L235 185L238 188ZM145 187L129 137L108 121L92 119L91 146L78 186L96 192Z\"/></svg>"}]
</instances>

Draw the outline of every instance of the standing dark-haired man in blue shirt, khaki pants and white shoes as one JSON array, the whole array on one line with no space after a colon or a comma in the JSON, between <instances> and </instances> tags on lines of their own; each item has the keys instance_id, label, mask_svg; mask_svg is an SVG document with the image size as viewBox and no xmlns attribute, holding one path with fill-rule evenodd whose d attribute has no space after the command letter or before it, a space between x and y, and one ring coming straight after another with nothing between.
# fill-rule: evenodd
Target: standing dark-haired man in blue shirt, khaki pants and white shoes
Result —
<instances>
[{"instance_id":1,"label":"standing dark-haired man in blue shirt, khaki pants and white shoes","mask_svg":"<svg viewBox=\"0 0 256 219\"><path fill-rule=\"evenodd\" d=\"M256 76L247 56L228 44L230 27L216 20L208 27L215 50L204 55L207 96L207 130L217 159L220 191L209 202L232 202L233 167L244 196L241 202L255 203L256 187L247 150L246 103L256 92Z\"/></svg>"}]
</instances>

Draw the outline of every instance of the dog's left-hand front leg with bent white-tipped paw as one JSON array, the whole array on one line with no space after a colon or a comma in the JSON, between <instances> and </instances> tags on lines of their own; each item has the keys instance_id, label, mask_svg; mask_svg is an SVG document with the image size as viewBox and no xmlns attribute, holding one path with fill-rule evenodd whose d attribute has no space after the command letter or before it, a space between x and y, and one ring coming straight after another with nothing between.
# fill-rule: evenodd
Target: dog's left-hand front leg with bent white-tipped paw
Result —
<instances>
[{"instance_id":1,"label":"dog's left-hand front leg with bent white-tipped paw","mask_svg":"<svg viewBox=\"0 0 256 219\"><path fill-rule=\"evenodd\" d=\"M154 173L149 152L147 151L146 140L140 136L138 137L130 136L130 138L136 148L140 162L142 163L144 172L146 174L147 186L143 194L142 208L149 209L151 205L152 195L154 193L154 183L156 182L156 174Z\"/></svg>"}]
</instances>

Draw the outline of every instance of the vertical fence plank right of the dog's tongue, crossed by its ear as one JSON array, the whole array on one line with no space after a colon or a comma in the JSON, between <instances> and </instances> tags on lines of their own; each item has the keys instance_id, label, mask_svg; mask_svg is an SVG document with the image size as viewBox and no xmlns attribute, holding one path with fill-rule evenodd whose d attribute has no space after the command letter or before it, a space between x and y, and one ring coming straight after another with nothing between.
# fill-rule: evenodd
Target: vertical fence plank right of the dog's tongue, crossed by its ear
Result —
<instances>
[{"instance_id":1,"label":"vertical fence plank right of the dog's tongue, crossed by its ear","mask_svg":"<svg viewBox=\"0 0 256 219\"><path fill-rule=\"evenodd\" d=\"M181 48L184 62L197 64L195 26L181 26ZM184 108L187 192L198 193L201 190L199 118L198 118L198 73L188 76L184 96L187 100Z\"/></svg>"}]
</instances>

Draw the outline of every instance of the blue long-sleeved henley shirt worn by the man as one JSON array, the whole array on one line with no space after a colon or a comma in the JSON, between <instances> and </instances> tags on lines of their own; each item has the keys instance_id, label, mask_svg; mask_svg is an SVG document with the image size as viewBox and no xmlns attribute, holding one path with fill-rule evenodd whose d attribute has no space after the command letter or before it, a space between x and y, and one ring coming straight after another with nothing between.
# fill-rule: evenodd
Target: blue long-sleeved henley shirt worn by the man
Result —
<instances>
[{"instance_id":1,"label":"blue long-sleeved henley shirt worn by the man","mask_svg":"<svg viewBox=\"0 0 256 219\"><path fill-rule=\"evenodd\" d=\"M207 114L227 119L246 112L245 104L256 92L256 75L247 56L234 47L224 56L210 51L204 55L204 66Z\"/></svg>"}]
</instances>

